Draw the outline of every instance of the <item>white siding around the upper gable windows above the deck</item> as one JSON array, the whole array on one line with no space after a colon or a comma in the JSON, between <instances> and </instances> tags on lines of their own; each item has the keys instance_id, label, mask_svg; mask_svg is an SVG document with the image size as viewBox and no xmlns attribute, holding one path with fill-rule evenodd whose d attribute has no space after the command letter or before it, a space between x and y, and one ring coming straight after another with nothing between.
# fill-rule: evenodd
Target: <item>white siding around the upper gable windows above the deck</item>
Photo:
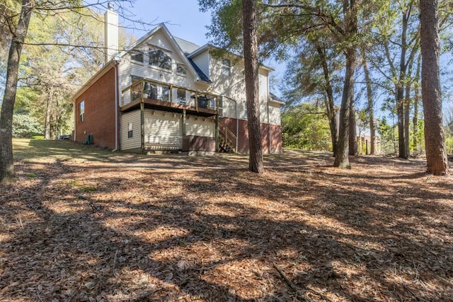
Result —
<instances>
[{"instance_id":1,"label":"white siding around the upper gable windows above the deck","mask_svg":"<svg viewBox=\"0 0 453 302\"><path fill-rule=\"evenodd\" d=\"M158 66L149 65L149 49L161 49L171 57L171 70L162 69ZM131 84L131 76L138 76L144 79L151 79L163 83L182 86L195 89L195 75L190 71L189 66L185 64L182 55L176 47L168 40L163 30L159 30L152 35L147 41L138 45L135 50L144 52L144 62L137 62L130 59L130 54L125 54L120 63L120 88L121 91ZM187 74L176 74L176 64L183 64L186 67ZM125 93L125 104L130 102L130 92Z\"/></svg>"}]
</instances>

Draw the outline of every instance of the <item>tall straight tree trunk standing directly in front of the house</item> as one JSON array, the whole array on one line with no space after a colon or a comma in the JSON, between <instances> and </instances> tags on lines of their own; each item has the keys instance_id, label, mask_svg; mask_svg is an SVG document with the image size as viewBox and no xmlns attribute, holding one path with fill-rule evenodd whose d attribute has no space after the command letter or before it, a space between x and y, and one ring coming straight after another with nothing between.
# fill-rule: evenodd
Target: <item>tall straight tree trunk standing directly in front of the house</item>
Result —
<instances>
[{"instance_id":1,"label":"tall straight tree trunk standing directly in front of the house","mask_svg":"<svg viewBox=\"0 0 453 302\"><path fill-rule=\"evenodd\" d=\"M248 117L248 168L263 173L263 146L261 145L260 104L258 99L258 20L256 0L242 1L243 57L246 73L246 98Z\"/></svg>"}]
</instances>

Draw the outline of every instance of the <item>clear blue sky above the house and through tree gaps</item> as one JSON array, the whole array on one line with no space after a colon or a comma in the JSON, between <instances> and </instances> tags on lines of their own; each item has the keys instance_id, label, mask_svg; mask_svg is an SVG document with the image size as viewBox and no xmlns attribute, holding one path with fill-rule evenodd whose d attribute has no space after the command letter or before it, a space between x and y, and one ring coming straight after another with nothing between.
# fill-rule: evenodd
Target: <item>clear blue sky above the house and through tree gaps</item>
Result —
<instances>
[{"instance_id":1,"label":"clear blue sky above the house and through tree gaps","mask_svg":"<svg viewBox=\"0 0 453 302\"><path fill-rule=\"evenodd\" d=\"M153 25L166 23L170 33L176 37L200 46L209 42L206 34L211 14L200 12L197 0L136 0L133 7L127 6L127 10L132 13L129 17L132 20L139 19ZM150 25L147 30L134 30L133 34L139 38L152 28L154 26ZM280 79L285 72L284 64L277 64L273 60L266 61L264 64L275 69L273 76L277 79ZM281 96L277 87L273 89L273 93Z\"/></svg>"}]
</instances>

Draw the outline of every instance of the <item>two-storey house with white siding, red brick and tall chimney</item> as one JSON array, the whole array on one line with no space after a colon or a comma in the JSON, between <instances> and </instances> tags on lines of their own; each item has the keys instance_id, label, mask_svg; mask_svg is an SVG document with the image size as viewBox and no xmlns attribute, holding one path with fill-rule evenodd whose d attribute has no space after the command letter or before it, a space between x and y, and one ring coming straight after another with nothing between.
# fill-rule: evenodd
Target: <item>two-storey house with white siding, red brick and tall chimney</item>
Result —
<instances>
[{"instance_id":1,"label":"two-storey house with white siding, red brick and tall chimney","mask_svg":"<svg viewBox=\"0 0 453 302\"><path fill-rule=\"evenodd\" d=\"M74 140L147 152L248 153L243 60L213 57L212 45L173 37L161 24L118 51L118 15L105 12L105 65L72 98ZM282 151L282 100L259 68L264 153Z\"/></svg>"}]
</instances>

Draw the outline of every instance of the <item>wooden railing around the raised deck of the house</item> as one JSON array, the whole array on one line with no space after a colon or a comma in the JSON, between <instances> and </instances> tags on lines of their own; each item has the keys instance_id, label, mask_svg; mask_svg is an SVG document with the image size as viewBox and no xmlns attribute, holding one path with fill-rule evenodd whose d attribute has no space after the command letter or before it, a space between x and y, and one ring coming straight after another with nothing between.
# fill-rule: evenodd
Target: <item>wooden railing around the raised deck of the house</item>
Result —
<instances>
[{"instance_id":1,"label":"wooden railing around the raised deck of the house","mask_svg":"<svg viewBox=\"0 0 453 302\"><path fill-rule=\"evenodd\" d=\"M163 102L188 105L198 108L217 110L218 96L205 91L171 85L149 79L139 79L122 90L121 107L140 99L160 100Z\"/></svg>"}]
</instances>

